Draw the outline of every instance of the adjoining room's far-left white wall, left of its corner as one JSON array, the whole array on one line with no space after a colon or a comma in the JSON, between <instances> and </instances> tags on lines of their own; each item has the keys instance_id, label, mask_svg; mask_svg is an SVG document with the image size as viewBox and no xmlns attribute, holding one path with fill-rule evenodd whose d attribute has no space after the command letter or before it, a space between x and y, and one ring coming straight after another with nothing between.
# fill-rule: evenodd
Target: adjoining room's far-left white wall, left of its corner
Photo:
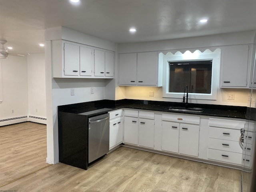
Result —
<instances>
[{"instance_id":1,"label":"adjoining room's far-left white wall, left of its corner","mask_svg":"<svg viewBox=\"0 0 256 192\"><path fill-rule=\"evenodd\" d=\"M27 121L27 58L26 56L9 56L8 59L0 59L0 64L2 68L2 102L0 102L0 126ZM26 118L20 118L24 116L26 116ZM14 118L14 120L7 120L10 118Z\"/></svg>"}]
</instances>

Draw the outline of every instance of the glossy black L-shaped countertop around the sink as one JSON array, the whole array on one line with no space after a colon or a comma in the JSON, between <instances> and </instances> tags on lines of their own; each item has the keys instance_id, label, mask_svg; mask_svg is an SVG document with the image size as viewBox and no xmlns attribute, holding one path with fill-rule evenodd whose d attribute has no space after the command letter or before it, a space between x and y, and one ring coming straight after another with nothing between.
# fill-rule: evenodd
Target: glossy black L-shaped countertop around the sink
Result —
<instances>
[{"instance_id":1,"label":"glossy black L-shaped countertop around the sink","mask_svg":"<svg viewBox=\"0 0 256 192\"><path fill-rule=\"evenodd\" d=\"M180 112L170 111L168 107L187 107L187 108L200 108L202 112ZM104 109L107 108L107 109ZM180 102L162 102L162 101L148 101L148 100L98 100L92 102L76 103L58 106L59 112L68 112L74 114L84 114L87 116L94 116L104 112L119 108L132 108L142 110L154 110L161 112L175 112L183 114L196 114L206 116L218 116L228 118L241 118L246 119L246 111L248 110L245 106L226 106L226 105L211 105L211 104L194 104L189 103L187 106Z\"/></svg>"}]
</instances>

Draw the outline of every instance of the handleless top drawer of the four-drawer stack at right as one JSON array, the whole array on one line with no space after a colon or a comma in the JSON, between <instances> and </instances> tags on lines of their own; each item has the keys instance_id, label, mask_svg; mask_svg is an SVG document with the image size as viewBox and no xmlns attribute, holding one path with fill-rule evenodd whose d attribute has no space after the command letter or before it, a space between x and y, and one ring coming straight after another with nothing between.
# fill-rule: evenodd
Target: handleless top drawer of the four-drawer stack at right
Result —
<instances>
[{"instance_id":1,"label":"handleless top drawer of the four-drawer stack at right","mask_svg":"<svg viewBox=\"0 0 256 192\"><path fill-rule=\"evenodd\" d=\"M223 127L240 130L244 128L244 125L244 121L209 118L209 126L211 127Z\"/></svg>"}]
</instances>

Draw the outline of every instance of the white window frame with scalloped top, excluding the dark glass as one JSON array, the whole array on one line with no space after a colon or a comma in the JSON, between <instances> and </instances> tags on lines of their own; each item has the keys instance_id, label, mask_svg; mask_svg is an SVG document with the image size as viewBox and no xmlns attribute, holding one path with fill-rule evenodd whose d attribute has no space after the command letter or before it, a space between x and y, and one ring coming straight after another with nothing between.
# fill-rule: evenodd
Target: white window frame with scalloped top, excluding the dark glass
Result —
<instances>
[{"instance_id":1,"label":"white window frame with scalloped top, excluding the dark glass","mask_svg":"<svg viewBox=\"0 0 256 192\"><path fill-rule=\"evenodd\" d=\"M213 52L209 49L205 50L204 52L200 52L196 50L195 52L191 53L189 50L184 52L176 52L172 54L168 52L164 55L162 52L159 54L160 60L163 62L163 86L162 86L162 96L163 98L183 98L183 93L175 93L175 92L168 92L169 89L169 71L170 65L169 61L171 62L184 62L186 60L212 60L212 88L210 94L202 94L202 93L189 93L188 99L193 100L217 100L217 89L220 80L220 49L217 48Z\"/></svg>"}]
</instances>

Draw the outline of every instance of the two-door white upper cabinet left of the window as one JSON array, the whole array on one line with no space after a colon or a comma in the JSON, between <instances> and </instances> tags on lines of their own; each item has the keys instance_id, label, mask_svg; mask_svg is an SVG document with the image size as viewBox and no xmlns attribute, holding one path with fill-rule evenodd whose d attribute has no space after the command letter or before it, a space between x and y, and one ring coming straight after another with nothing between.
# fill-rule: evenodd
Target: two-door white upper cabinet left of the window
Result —
<instances>
[{"instance_id":1,"label":"two-door white upper cabinet left of the window","mask_svg":"<svg viewBox=\"0 0 256 192\"><path fill-rule=\"evenodd\" d=\"M157 52L119 54L119 85L162 86Z\"/></svg>"}]
</instances>

